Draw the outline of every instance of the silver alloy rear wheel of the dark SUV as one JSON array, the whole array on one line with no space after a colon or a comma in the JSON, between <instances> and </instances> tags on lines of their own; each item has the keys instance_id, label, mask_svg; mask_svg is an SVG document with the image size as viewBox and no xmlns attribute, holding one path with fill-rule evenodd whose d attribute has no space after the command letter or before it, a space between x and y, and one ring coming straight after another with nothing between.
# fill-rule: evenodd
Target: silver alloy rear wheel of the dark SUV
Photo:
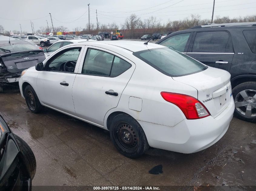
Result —
<instances>
[{"instance_id":1,"label":"silver alloy rear wheel of the dark SUV","mask_svg":"<svg viewBox=\"0 0 256 191\"><path fill-rule=\"evenodd\" d=\"M234 116L244 121L256 122L256 82L241 83L232 89L235 102ZM240 103L239 103L240 102Z\"/></svg>"}]
</instances>

